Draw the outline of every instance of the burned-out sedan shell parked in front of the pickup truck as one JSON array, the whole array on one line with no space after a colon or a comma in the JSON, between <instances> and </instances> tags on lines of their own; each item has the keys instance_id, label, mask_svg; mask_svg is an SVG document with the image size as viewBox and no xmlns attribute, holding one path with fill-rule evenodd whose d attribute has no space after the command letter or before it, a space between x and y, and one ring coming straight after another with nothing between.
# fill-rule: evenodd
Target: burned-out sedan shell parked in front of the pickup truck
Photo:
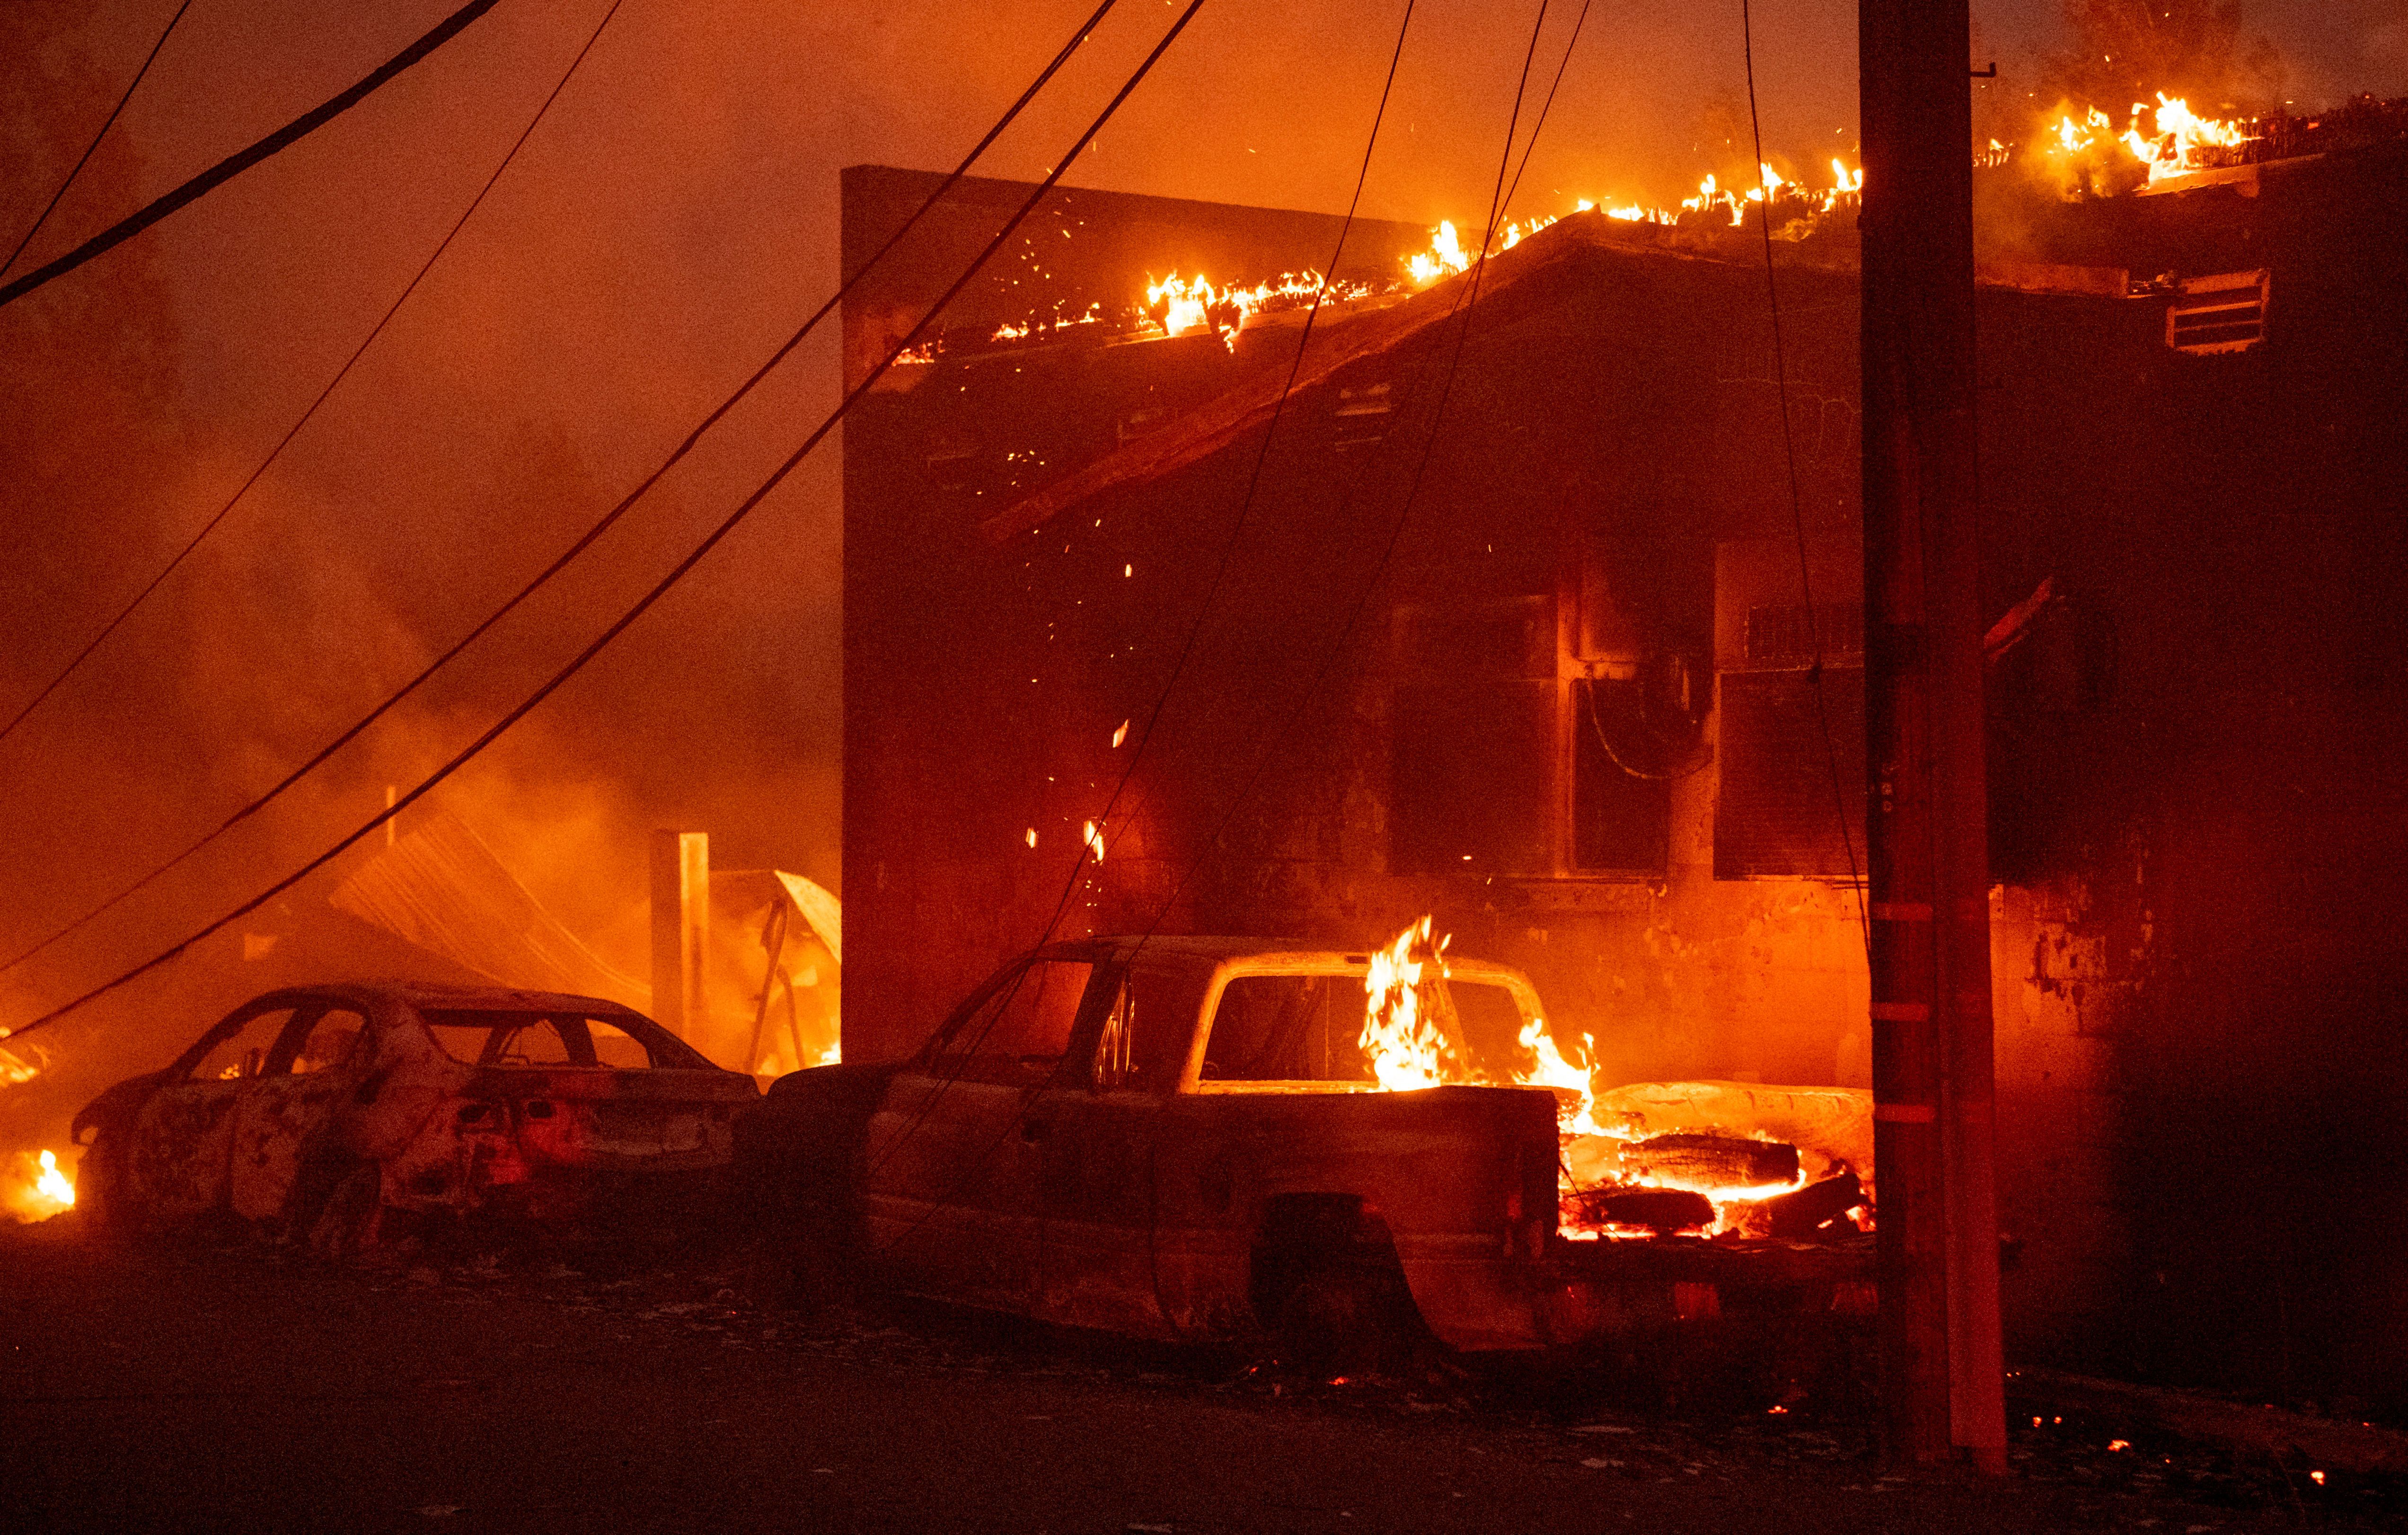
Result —
<instances>
[{"instance_id":1,"label":"burned-out sedan shell parked in front of the pickup truck","mask_svg":"<svg viewBox=\"0 0 2408 1535\"><path fill-rule=\"evenodd\" d=\"M231 1217L327 1253L460 1215L645 1231L710 1205L756 1096L597 998L308 986L87 1104L77 1181L113 1227Z\"/></svg>"}]
</instances>

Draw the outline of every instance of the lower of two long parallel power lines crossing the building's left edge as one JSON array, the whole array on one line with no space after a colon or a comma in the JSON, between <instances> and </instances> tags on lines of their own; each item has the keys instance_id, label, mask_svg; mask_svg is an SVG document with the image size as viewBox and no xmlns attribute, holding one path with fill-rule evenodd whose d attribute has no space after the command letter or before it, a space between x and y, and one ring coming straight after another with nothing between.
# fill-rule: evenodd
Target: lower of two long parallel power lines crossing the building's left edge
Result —
<instances>
[{"instance_id":1,"label":"lower of two long parallel power lines crossing the building's left edge","mask_svg":"<svg viewBox=\"0 0 2408 1535\"><path fill-rule=\"evenodd\" d=\"M595 655L600 655L604 648L609 648L609 643L614 639L619 639L628 629L628 624L633 624L645 612L650 612L653 605L660 602L660 598L665 598L669 593L669 588L674 588L679 581L684 581L686 574L696 564L701 564L706 554L710 554L715 547L720 547L720 540L725 540L730 533L734 533L737 523L742 523L746 516L751 516L754 506L759 506L763 499L768 499L768 494L773 489L778 489L785 482L787 475L795 472L795 465L799 465L811 448L816 448L821 441L826 441L826 436L831 431L836 431L836 424L845 414L852 412L852 407L862 400L862 395L867 395L877 386L879 378L886 376L886 369L893 366L896 357L901 357L905 349L910 349L920 340L920 335L937 320L937 316L944 313L944 306L951 304L956 296L961 296L961 289L970 287L970 280L978 277L980 270L985 270L985 265L995 258L995 253L1004 248L1004 241L1009 241L1011 234L1019 231L1019 227L1028 219L1028 214L1035 212L1035 207L1045 198L1045 193L1050 193L1055 188L1055 183L1062 181L1062 174L1072 164L1076 164L1076 159L1086 149L1086 145L1098 133L1103 133L1103 125L1112 118L1115 111L1120 111L1120 104L1127 101L1129 94L1139 87L1139 82L1144 82L1144 77L1153 72L1153 65L1163 58L1163 53L1170 51L1170 43L1178 41L1178 36L1182 31L1187 31L1187 24L1194 19L1194 14L1199 10L1204 10L1204 0L1190 0L1187 10L1180 12L1180 19L1173 22L1170 31L1163 34L1163 41L1158 41L1153 46L1153 53L1149 53L1146 60L1141 65L1137 65L1137 72L1129 75L1129 80L1105 104L1105 108L1096 116L1096 120L1088 123L1086 133L1079 135L1079 142L1074 142L1069 147L1069 152L1064 152L1055 161L1052 171L1045 174L1045 181L1040 181L1038 188L1028 195L1028 200L1021 202L1019 212L1014 212L1011 219L995 234L995 239L987 241L985 251L980 251L978 258L961 272L961 277L954 282L954 287L949 287L944 292L944 296L937 299L927 308L927 313L920 316L920 320L910 328L910 333L903 335L903 340L898 340L886 352L886 357L881 357L879 364L874 369L869 369L857 386L852 386L852 390L836 405L836 410L828 412L828 417L819 427L811 429L811 436L807 436L802 441L802 446L795 448L785 458L785 463L780 463L768 475L768 480L763 480L759 484L759 489L754 489L749 496L744 496L744 501L732 513L727 513L727 518L720 521L720 525L713 528L703 537L703 542L698 542L684 559L679 559L669 569L667 576L662 576L643 598L638 598L633 607L628 607L624 614L619 614L612 622L609 629L604 629L600 636L595 636L592 643L588 643L583 651L578 651L576 658L568 660L568 665L563 665L561 670L556 670L542 687L537 687L523 704L518 704L506 716L501 716L484 735L479 735L474 742L470 742L460 754L455 754L441 769L436 769L433 774L429 774L426 778L421 778L409 793L400 795L393 805L388 805L385 810L371 814L366 822L361 822L361 827L356 831L352 831L349 836L344 836L342 841L337 841L325 853L318 853L315 858L311 858L308 863L303 863L291 875L284 875L282 880L277 880L275 884L270 884L260 894L250 896L248 901L243 901L234 911L224 913L222 918L207 923L205 928L200 928L197 933L193 933L190 937L185 937L183 942L178 942L178 945L173 945L173 947L169 947L169 949L164 949L164 952L144 959L142 964L137 964L137 966L132 966L128 971L120 971L116 978L104 981L101 986L94 986L92 990L87 990L84 995L75 998L72 1002L65 1002L60 1007L53 1007L51 1012L43 1012L34 1022L24 1024L24 1029L14 1029L12 1034L24 1034L29 1029L39 1029L41 1024L55 1022L55 1019L75 1012L84 1002L92 1002L94 998L101 998L101 995L106 995L106 993L125 986L128 981L159 969L161 964L166 964L169 959L173 959L176 954L181 954L183 949L188 949L190 945L209 937L212 933L226 928L229 923L241 921L243 916L250 916L253 911L258 911L267 901L277 899L279 894L284 894L287 889L291 889L294 884L299 884L301 880L306 880L308 875L315 875L320 868L325 868L327 863L332 863L335 858L340 858L347 848L352 848L354 843L359 843L364 836L368 836L371 831L376 831L378 827L383 827L385 822L390 822L393 817L397 817L400 812L409 810L421 798L426 798L429 793L433 793L445 778L450 778L453 774L458 774L479 752L484 752L489 745L494 745L510 725L515 725L518 721L527 718L527 713L532 713L537 704L542 704L554 692L559 692L563 682L568 682L580 670L585 670L585 663L590 663Z\"/></svg>"}]
</instances>

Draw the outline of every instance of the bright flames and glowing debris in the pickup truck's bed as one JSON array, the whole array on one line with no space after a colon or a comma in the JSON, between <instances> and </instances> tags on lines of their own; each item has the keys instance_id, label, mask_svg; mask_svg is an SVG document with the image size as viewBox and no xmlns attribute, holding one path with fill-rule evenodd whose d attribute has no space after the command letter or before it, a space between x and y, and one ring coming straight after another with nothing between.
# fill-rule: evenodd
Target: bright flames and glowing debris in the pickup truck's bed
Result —
<instances>
[{"instance_id":1,"label":"bright flames and glowing debris in the pickup truck's bed","mask_svg":"<svg viewBox=\"0 0 2408 1535\"><path fill-rule=\"evenodd\" d=\"M1587 1065L1524 1022L1512 1072L1498 1082L1442 1027L1430 983L1447 976L1447 935L1423 916L1373 954L1363 981L1358 1048L1377 1092L1447 1082L1546 1087L1556 1094L1558 1229L1575 1241L1647 1241L1674 1234L1816 1241L1873 1227L1871 1193L1845 1159L1755 1133L1649 1135L1599 1116Z\"/></svg>"}]
</instances>

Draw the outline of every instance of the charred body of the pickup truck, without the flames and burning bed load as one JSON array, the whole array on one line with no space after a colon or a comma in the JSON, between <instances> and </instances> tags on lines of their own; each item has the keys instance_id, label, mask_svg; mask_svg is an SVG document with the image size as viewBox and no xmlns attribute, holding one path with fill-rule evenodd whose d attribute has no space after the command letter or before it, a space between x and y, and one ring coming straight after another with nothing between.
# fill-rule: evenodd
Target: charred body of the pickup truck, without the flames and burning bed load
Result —
<instances>
[{"instance_id":1,"label":"charred body of the pickup truck, without the flames and burning bed load","mask_svg":"<svg viewBox=\"0 0 2408 1535\"><path fill-rule=\"evenodd\" d=\"M804 1272L1161 1340L1418 1318L1529 1349L1649 1311L1633 1284L1666 1318L1712 1284L1671 1251L1558 1239L1553 1092L1382 1092L1356 1043L1370 966L1240 937L1050 945L910 1060L775 1082L737 1125L739 1186ZM1539 1019L1507 966L1450 957L1423 995L1471 1080L1505 1077L1491 1058Z\"/></svg>"}]
</instances>

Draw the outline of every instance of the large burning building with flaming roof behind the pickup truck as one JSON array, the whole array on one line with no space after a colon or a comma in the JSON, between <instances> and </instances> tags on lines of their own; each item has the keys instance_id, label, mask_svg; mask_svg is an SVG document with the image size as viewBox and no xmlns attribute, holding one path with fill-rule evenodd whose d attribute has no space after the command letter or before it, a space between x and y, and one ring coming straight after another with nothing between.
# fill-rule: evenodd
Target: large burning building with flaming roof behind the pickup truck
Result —
<instances>
[{"instance_id":1,"label":"large burning building with flaming roof behind the pickup truck","mask_svg":"<svg viewBox=\"0 0 2408 1535\"><path fill-rule=\"evenodd\" d=\"M2227 159L1984 188L2008 1330L2372 1398L2408 154ZM850 171L848 272L934 186ZM1007 198L855 289L848 381ZM1040 205L848 424L848 1060L1047 930L1433 913L1597 1087L1869 1082L1852 231L1775 241L1777 371L1746 200L1635 212L1433 287L1428 231L1358 222L1298 361L1336 219Z\"/></svg>"}]
</instances>

